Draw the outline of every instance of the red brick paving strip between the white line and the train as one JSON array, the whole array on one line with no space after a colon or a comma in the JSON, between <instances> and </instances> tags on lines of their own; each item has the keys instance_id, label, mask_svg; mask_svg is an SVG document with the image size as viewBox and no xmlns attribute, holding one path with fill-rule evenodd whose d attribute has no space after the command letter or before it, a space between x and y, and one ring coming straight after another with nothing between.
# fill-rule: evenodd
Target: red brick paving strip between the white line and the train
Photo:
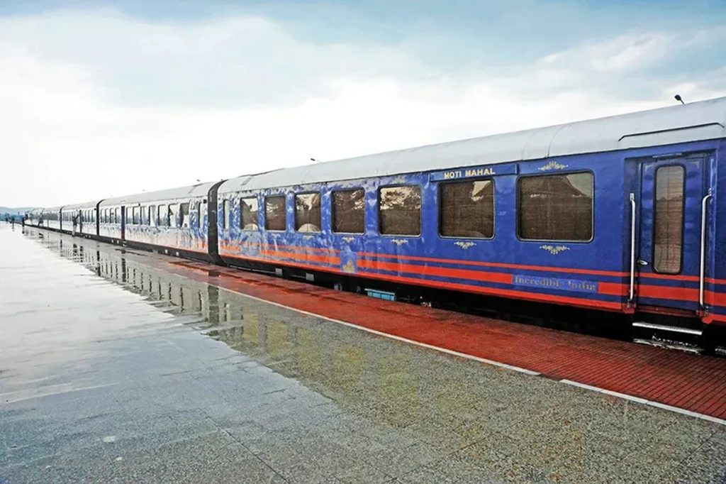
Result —
<instances>
[{"instance_id":1,"label":"red brick paving strip between the white line and the train","mask_svg":"<svg viewBox=\"0 0 726 484\"><path fill-rule=\"evenodd\" d=\"M726 419L726 358L387 302L201 262L166 270L416 342Z\"/></svg>"}]
</instances>

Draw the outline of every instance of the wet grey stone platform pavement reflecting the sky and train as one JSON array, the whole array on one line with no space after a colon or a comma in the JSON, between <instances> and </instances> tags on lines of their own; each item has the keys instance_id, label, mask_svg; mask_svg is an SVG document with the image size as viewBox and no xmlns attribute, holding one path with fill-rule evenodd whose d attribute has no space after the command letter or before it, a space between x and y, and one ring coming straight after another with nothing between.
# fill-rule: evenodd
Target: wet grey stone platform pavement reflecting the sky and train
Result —
<instances>
[{"instance_id":1,"label":"wet grey stone platform pavement reflecting the sky and train","mask_svg":"<svg viewBox=\"0 0 726 484\"><path fill-rule=\"evenodd\" d=\"M0 223L0 482L726 482L726 426L158 259Z\"/></svg>"}]
</instances>

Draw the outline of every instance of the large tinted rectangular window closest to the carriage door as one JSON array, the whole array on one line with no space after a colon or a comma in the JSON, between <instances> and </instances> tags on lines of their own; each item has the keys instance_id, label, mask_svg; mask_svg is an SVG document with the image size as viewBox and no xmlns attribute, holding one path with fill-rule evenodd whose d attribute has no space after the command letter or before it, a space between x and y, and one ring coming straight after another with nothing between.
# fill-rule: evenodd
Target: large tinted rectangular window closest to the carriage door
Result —
<instances>
[{"instance_id":1,"label":"large tinted rectangular window closest to the carriage door","mask_svg":"<svg viewBox=\"0 0 726 484\"><path fill-rule=\"evenodd\" d=\"M592 174L521 177L519 236L537 241L592 240Z\"/></svg>"}]
</instances>

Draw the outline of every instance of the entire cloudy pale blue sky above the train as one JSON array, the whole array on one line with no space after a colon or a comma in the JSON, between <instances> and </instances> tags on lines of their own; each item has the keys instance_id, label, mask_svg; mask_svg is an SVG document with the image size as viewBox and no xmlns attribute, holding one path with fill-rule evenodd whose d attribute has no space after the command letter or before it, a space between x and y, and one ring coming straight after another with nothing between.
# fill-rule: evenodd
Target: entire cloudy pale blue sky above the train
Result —
<instances>
[{"instance_id":1,"label":"entire cloudy pale blue sky above the train","mask_svg":"<svg viewBox=\"0 0 726 484\"><path fill-rule=\"evenodd\" d=\"M726 1L0 0L0 205L726 95Z\"/></svg>"}]
</instances>

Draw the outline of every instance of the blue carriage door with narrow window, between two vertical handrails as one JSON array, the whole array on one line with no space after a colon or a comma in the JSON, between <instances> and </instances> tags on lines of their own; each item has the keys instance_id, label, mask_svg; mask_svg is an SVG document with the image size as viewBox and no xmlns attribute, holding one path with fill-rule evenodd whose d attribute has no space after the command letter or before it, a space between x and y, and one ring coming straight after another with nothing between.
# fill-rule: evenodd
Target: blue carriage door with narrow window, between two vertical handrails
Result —
<instances>
[{"instance_id":1,"label":"blue carriage door with narrow window, between two vertical handrails","mask_svg":"<svg viewBox=\"0 0 726 484\"><path fill-rule=\"evenodd\" d=\"M640 164L640 236L635 297L641 309L695 315L701 310L701 239L708 157L650 159ZM703 254L708 257L708 254Z\"/></svg>"}]
</instances>

